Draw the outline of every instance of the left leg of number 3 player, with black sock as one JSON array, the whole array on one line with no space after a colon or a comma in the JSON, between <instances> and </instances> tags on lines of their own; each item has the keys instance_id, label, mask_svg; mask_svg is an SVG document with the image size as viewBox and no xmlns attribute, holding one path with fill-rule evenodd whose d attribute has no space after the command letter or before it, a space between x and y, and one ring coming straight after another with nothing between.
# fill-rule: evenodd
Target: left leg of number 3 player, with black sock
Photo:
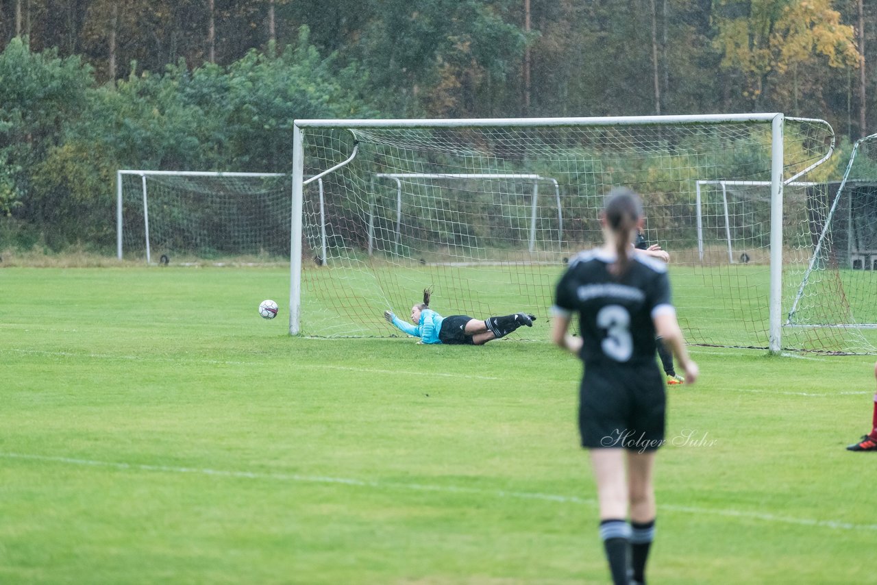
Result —
<instances>
[{"instance_id":1,"label":"left leg of number 3 player, with black sock","mask_svg":"<svg viewBox=\"0 0 877 585\"><path fill-rule=\"evenodd\" d=\"M591 465L600 504L600 538L616 585L626 584L627 549L631 526L627 524L627 482L624 477L624 449L591 449Z\"/></svg>"}]
</instances>

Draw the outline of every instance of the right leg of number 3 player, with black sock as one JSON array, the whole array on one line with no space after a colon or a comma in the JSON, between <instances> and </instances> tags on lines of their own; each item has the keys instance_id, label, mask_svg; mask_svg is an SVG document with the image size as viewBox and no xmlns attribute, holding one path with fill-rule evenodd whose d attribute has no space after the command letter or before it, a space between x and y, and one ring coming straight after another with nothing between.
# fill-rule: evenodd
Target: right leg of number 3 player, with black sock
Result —
<instances>
[{"instance_id":1,"label":"right leg of number 3 player, with black sock","mask_svg":"<svg viewBox=\"0 0 877 585\"><path fill-rule=\"evenodd\" d=\"M654 451L627 453L627 477L631 500L632 581L645 583L645 563L655 531L655 495L652 485Z\"/></svg>"}]
</instances>

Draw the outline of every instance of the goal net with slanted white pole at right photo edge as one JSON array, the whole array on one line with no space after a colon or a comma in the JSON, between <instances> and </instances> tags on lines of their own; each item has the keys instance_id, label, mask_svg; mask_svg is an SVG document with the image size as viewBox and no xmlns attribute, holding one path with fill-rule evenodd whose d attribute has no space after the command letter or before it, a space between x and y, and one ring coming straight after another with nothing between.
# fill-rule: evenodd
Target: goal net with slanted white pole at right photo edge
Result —
<instances>
[{"instance_id":1,"label":"goal net with slanted white pole at right photo edge","mask_svg":"<svg viewBox=\"0 0 877 585\"><path fill-rule=\"evenodd\" d=\"M814 199L813 246L786 329L842 332L848 351L877 353L877 134L852 148L843 178Z\"/></svg>"}]
</instances>

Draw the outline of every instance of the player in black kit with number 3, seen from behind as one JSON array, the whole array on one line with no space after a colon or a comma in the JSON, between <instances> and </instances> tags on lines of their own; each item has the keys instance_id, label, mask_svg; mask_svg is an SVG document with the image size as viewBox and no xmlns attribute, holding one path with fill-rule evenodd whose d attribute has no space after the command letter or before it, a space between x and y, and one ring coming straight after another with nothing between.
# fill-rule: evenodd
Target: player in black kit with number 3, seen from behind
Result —
<instances>
[{"instance_id":1,"label":"player in black kit with number 3, seen from behind","mask_svg":"<svg viewBox=\"0 0 877 585\"><path fill-rule=\"evenodd\" d=\"M667 265L631 246L642 218L639 197L630 189L613 189L601 215L605 245L570 261L553 307L554 343L585 362L581 445L590 451L600 535L617 585L645 583L654 536L652 469L664 442L667 402L655 362L656 335L676 356L686 383L695 382L698 373L670 303ZM569 332L576 314L581 337Z\"/></svg>"}]
</instances>

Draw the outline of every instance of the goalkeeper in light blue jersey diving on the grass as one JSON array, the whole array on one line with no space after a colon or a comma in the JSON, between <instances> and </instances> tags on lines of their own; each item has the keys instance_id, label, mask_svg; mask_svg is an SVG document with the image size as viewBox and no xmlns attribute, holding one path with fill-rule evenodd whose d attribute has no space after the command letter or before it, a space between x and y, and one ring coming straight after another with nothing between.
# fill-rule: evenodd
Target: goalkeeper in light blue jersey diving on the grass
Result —
<instances>
[{"instance_id":1,"label":"goalkeeper in light blue jersey diving on the grass","mask_svg":"<svg viewBox=\"0 0 877 585\"><path fill-rule=\"evenodd\" d=\"M384 318L403 332L420 338L421 343L451 346L483 346L488 341L505 337L521 325L532 327L536 320L527 313L488 317L483 321L467 315L442 317L430 309L431 295L431 289L424 289L424 302L411 307L411 323L414 325L396 317L392 310L385 310Z\"/></svg>"}]
</instances>

